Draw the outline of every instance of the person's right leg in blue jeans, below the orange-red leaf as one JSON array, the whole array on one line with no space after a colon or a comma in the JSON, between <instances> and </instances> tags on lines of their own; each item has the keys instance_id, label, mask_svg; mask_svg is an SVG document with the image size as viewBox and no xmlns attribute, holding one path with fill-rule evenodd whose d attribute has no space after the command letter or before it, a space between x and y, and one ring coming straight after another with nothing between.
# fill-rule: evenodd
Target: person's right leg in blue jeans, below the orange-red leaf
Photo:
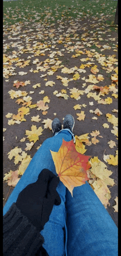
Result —
<instances>
[{"instance_id":1,"label":"person's right leg in blue jeans, below the orange-red leaf","mask_svg":"<svg viewBox=\"0 0 121 256\"><path fill-rule=\"evenodd\" d=\"M67 255L117 256L118 228L89 183L66 189Z\"/></svg>"}]
</instances>

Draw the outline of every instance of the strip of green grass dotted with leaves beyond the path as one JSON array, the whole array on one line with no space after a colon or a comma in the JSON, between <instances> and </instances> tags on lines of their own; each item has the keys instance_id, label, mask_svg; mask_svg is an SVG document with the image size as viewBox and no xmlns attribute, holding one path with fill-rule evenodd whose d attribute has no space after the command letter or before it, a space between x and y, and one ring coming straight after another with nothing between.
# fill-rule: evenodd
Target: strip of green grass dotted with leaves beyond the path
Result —
<instances>
[{"instance_id":1,"label":"strip of green grass dotted with leaves beyond the path","mask_svg":"<svg viewBox=\"0 0 121 256\"><path fill-rule=\"evenodd\" d=\"M64 19L107 20L111 24L116 13L117 1L112 0L18 0L3 2L3 25L34 21L55 23ZM101 15L101 16L100 16Z\"/></svg>"}]
</instances>

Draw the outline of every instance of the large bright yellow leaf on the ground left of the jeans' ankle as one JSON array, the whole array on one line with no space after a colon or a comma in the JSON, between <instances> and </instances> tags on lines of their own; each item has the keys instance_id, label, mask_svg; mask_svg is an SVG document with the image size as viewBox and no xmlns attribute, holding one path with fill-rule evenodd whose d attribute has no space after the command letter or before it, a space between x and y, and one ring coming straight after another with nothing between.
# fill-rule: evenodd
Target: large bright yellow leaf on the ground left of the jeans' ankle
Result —
<instances>
[{"instance_id":1,"label":"large bright yellow leaf on the ground left of the jeans' ankle","mask_svg":"<svg viewBox=\"0 0 121 256\"><path fill-rule=\"evenodd\" d=\"M42 134L42 127L40 126L38 129L36 126L32 125L31 126L31 130L26 130L26 135L27 135L27 138L30 140L30 141L34 141L34 143L39 139L38 136L40 136Z\"/></svg>"}]
</instances>

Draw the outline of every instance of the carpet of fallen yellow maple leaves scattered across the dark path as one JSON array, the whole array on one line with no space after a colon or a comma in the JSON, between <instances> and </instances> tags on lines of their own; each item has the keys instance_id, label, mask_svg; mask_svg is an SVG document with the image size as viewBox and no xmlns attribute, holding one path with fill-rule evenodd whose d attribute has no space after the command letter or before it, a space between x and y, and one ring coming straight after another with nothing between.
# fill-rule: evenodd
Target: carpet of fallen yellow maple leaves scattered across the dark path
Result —
<instances>
[{"instance_id":1,"label":"carpet of fallen yellow maple leaves scattered across the dark path","mask_svg":"<svg viewBox=\"0 0 121 256\"><path fill-rule=\"evenodd\" d=\"M69 104L68 112L72 113L76 125L80 127L80 133L75 134L75 149L80 154L86 151L88 154L88 148L89 151L91 148L91 155L94 155L94 147L98 154L98 144L105 140L108 130L107 146L103 148L108 155L103 154L103 160L91 156L91 167L87 172L91 187L107 208L111 199L109 186L116 184L109 177L113 172L108 168L118 165L117 33L103 23L103 15L98 23L96 17L90 18L88 14L85 14L85 19L79 15L75 19L64 19L63 16L65 13L61 20L56 21L57 24L54 18L53 23L50 22L46 13L46 18L41 22L31 23L28 20L20 21L17 25L4 25L3 78L8 86L8 102L14 101L15 106L13 110L8 107L4 127L9 133L9 129L24 127L27 122L29 129L23 128L23 137L19 140L21 147L8 150L8 161L13 161L13 169L16 166L18 169L12 171L7 166L3 180L8 186L16 186L32 159L25 151L34 149L36 152L36 141L41 140L42 143L40 137L45 134L46 138L47 130L51 130L53 115L59 115L57 106L52 113L51 101L62 100L65 106ZM82 134L81 126L87 125L87 118L89 122L94 122L95 130L88 126L88 133ZM36 126L31 122L38 124ZM103 127L103 133L98 130L97 122Z\"/></svg>"}]
</instances>

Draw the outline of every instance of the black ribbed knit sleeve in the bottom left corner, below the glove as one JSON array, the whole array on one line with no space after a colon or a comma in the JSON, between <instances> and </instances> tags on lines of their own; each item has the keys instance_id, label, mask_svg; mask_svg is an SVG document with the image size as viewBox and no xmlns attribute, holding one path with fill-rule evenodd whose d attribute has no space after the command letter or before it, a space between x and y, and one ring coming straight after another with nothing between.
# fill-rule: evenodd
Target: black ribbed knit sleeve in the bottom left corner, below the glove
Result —
<instances>
[{"instance_id":1,"label":"black ribbed knit sleeve in the bottom left corner, below the glove","mask_svg":"<svg viewBox=\"0 0 121 256\"><path fill-rule=\"evenodd\" d=\"M43 242L44 238L37 231L37 228L13 203L3 216L3 255L48 256L46 250L42 247ZM42 251L44 253L41 253Z\"/></svg>"}]
</instances>

